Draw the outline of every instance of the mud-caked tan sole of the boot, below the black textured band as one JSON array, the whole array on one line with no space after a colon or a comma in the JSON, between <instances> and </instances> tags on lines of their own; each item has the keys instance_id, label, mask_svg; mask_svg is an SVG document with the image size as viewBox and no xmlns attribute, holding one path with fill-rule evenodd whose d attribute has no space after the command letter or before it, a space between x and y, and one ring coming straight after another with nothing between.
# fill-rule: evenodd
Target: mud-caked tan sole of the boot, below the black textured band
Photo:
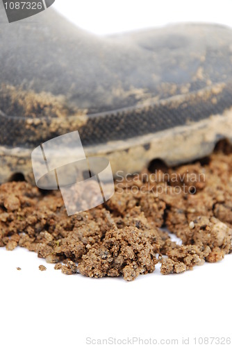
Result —
<instances>
[{"instance_id":1,"label":"mud-caked tan sole of the boot, below the black textured band","mask_svg":"<svg viewBox=\"0 0 232 347\"><path fill-rule=\"evenodd\" d=\"M113 174L117 177L117 173L139 172L155 159L163 160L170 167L204 158L213 152L219 140L227 139L232 144L231 124L232 108L223 115L215 115L197 124L160 131L155 136L149 134L84 149L87 156L103 155L108 158ZM35 185L31 149L0 146L0 167L1 183L23 175L29 183Z\"/></svg>"}]
</instances>

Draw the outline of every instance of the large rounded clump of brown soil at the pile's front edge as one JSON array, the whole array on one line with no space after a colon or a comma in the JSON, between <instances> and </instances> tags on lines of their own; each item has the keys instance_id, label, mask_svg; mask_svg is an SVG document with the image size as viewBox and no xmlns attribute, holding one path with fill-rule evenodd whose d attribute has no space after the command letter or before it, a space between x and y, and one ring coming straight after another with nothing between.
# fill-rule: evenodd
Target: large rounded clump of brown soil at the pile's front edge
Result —
<instances>
[{"instance_id":1,"label":"large rounded clump of brown soil at the pile's front edge","mask_svg":"<svg viewBox=\"0 0 232 347\"><path fill-rule=\"evenodd\" d=\"M154 236L156 237L156 235ZM94 244L82 257L78 269L90 277L124 276L133 280L140 273L151 273L158 263L159 247L136 227L110 229L102 242Z\"/></svg>"}]
</instances>

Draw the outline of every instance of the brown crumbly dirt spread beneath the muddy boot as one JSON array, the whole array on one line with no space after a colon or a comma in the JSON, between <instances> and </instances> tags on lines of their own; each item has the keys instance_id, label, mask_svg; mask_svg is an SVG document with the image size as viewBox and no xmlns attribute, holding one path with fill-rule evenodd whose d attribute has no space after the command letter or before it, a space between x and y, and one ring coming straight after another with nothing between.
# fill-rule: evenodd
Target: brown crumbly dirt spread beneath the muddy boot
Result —
<instances>
[{"instance_id":1,"label":"brown crumbly dirt spread beneath the muddy boot","mask_svg":"<svg viewBox=\"0 0 232 347\"><path fill-rule=\"evenodd\" d=\"M28 248L67 275L131 281L158 262L165 275L183 273L222 260L231 239L232 149L225 142L204 160L156 164L115 182L110 201L72 217L60 192L26 182L0 186L0 246Z\"/></svg>"}]
</instances>

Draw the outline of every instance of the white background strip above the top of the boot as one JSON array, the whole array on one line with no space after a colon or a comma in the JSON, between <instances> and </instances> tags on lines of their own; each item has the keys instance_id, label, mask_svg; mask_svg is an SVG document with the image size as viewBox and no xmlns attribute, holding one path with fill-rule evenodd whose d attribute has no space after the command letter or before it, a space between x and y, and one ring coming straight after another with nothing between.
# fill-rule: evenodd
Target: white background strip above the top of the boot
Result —
<instances>
[{"instance_id":1,"label":"white background strip above the top of the boot","mask_svg":"<svg viewBox=\"0 0 232 347\"><path fill-rule=\"evenodd\" d=\"M56 0L53 6L100 35L175 22L232 25L231 0Z\"/></svg>"}]
</instances>

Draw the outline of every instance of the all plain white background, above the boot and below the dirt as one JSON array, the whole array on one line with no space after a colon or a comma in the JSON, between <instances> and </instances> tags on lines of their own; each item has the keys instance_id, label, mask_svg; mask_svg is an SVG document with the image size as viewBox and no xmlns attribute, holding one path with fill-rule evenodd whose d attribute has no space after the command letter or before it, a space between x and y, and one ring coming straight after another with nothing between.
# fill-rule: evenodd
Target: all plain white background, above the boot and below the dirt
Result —
<instances>
[{"instance_id":1,"label":"all plain white background, above the boot and below the dirt","mask_svg":"<svg viewBox=\"0 0 232 347\"><path fill-rule=\"evenodd\" d=\"M232 17L232 1L56 0L55 7L99 34L169 22L231 25ZM3 347L82 347L87 337L179 339L179 345L190 337L190 346L193 337L232 338L231 255L181 275L161 276L157 269L134 282L65 276L24 249L0 248L0 257Z\"/></svg>"}]
</instances>

